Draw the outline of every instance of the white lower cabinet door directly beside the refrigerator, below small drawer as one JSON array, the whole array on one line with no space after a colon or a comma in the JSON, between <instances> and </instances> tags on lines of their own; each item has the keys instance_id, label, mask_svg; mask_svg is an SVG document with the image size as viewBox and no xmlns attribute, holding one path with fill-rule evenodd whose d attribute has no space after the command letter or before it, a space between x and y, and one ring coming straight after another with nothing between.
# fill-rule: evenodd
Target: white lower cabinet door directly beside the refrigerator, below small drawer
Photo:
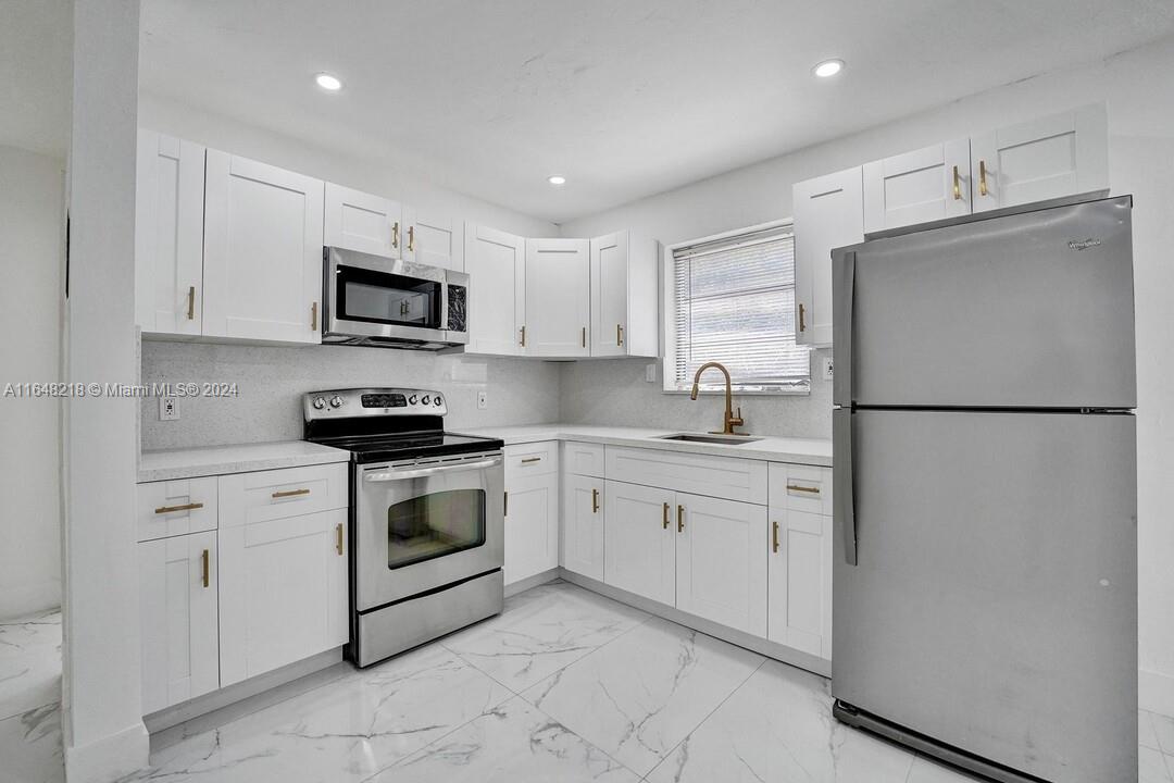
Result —
<instances>
[{"instance_id":1,"label":"white lower cabinet door directly beside the refrigerator, below small drawer","mask_svg":"<svg viewBox=\"0 0 1174 783\"><path fill-rule=\"evenodd\" d=\"M767 583L772 642L831 660L831 517L771 506Z\"/></svg>"}]
</instances>

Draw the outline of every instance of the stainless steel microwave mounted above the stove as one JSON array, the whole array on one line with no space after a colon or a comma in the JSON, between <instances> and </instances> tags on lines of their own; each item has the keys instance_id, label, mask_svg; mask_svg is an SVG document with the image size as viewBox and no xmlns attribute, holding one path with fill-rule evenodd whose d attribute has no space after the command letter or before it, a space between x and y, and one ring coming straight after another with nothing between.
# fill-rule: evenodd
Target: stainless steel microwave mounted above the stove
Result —
<instances>
[{"instance_id":1,"label":"stainless steel microwave mounted above the stove","mask_svg":"<svg viewBox=\"0 0 1174 783\"><path fill-rule=\"evenodd\" d=\"M443 351L468 343L468 275L323 250L322 342Z\"/></svg>"}]
</instances>

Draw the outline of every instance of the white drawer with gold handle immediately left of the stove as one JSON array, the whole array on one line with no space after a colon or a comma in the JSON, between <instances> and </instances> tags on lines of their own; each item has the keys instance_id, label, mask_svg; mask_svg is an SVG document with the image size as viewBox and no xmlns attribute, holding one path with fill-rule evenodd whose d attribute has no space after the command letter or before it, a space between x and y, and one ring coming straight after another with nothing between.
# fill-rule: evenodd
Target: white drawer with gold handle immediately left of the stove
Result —
<instances>
[{"instance_id":1,"label":"white drawer with gold handle immediately left of the stove","mask_svg":"<svg viewBox=\"0 0 1174 783\"><path fill-rule=\"evenodd\" d=\"M311 465L220 477L223 527L299 517L350 505L348 465Z\"/></svg>"}]
</instances>

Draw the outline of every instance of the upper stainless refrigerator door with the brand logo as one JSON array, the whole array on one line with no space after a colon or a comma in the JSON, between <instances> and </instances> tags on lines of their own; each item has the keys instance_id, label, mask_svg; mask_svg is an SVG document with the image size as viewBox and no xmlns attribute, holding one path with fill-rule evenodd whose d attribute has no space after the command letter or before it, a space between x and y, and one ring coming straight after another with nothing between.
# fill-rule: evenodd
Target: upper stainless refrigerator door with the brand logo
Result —
<instances>
[{"instance_id":1,"label":"upper stainless refrigerator door with the brand logo","mask_svg":"<svg viewBox=\"0 0 1174 783\"><path fill-rule=\"evenodd\" d=\"M832 254L843 406L1131 409L1131 198Z\"/></svg>"}]
</instances>

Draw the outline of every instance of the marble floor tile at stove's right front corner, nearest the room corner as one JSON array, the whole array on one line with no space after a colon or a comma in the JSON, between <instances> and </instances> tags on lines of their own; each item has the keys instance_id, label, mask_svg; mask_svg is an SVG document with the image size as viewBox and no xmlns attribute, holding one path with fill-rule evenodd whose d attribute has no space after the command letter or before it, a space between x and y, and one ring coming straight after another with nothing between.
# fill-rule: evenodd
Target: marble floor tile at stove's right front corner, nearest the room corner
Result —
<instances>
[{"instance_id":1,"label":"marble floor tile at stove's right front corner, nearest the room corner","mask_svg":"<svg viewBox=\"0 0 1174 783\"><path fill-rule=\"evenodd\" d=\"M511 598L499 616L441 643L520 693L648 617L581 587L553 582Z\"/></svg>"}]
</instances>

